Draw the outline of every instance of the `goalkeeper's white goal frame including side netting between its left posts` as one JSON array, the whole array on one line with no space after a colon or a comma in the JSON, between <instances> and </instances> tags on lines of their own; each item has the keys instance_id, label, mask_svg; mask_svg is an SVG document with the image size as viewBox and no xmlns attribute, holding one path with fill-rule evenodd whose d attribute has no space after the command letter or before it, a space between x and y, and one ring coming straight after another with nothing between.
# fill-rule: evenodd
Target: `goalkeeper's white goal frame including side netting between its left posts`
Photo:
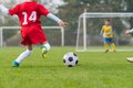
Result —
<instances>
[{"instance_id":1,"label":"goalkeeper's white goal frame including side netting between its left posts","mask_svg":"<svg viewBox=\"0 0 133 88\"><path fill-rule=\"evenodd\" d=\"M76 35L76 52L86 52L88 51L88 19L115 19L115 18L131 18L133 16L132 12L86 12L84 11L79 16L78 23L78 35ZM101 28L100 28L101 29ZM81 36L82 35L82 36ZM80 44L82 42L82 44Z\"/></svg>"}]
</instances>

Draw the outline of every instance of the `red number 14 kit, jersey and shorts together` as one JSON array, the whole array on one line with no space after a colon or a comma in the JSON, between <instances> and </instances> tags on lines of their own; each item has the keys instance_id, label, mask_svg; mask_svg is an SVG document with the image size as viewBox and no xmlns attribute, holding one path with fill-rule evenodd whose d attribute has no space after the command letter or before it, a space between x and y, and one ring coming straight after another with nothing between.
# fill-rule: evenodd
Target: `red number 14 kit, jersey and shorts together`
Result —
<instances>
[{"instance_id":1,"label":"red number 14 kit, jersey and shorts together","mask_svg":"<svg viewBox=\"0 0 133 88\"><path fill-rule=\"evenodd\" d=\"M47 36L40 25L40 16L50 12L37 2L23 2L9 10L9 14L17 14L20 20L21 36L23 45L40 44L48 42Z\"/></svg>"}]
</instances>

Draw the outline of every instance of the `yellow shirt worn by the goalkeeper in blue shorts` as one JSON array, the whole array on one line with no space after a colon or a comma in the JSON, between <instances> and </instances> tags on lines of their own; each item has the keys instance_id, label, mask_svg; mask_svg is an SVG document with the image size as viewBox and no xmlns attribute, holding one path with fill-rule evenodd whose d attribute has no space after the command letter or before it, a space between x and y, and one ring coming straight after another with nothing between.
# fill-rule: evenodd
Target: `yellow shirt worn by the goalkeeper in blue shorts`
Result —
<instances>
[{"instance_id":1,"label":"yellow shirt worn by the goalkeeper in blue shorts","mask_svg":"<svg viewBox=\"0 0 133 88\"><path fill-rule=\"evenodd\" d=\"M113 37L112 26L111 25L109 25L109 26L103 25L102 26L102 32L103 32L103 37Z\"/></svg>"}]
</instances>

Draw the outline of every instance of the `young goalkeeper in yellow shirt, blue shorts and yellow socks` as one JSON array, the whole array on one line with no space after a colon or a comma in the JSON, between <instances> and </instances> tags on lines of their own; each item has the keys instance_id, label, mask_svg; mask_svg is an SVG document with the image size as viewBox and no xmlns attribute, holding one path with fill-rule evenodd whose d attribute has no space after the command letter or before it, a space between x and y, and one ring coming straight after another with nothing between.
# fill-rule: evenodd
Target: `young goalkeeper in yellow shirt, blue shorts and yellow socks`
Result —
<instances>
[{"instance_id":1,"label":"young goalkeeper in yellow shirt, blue shorts and yellow socks","mask_svg":"<svg viewBox=\"0 0 133 88\"><path fill-rule=\"evenodd\" d=\"M105 53L109 52L109 45L111 45L112 51L115 51L115 44L113 43L113 29L111 25L111 20L105 20L102 26L101 34L103 35L103 42L105 47Z\"/></svg>"}]
</instances>

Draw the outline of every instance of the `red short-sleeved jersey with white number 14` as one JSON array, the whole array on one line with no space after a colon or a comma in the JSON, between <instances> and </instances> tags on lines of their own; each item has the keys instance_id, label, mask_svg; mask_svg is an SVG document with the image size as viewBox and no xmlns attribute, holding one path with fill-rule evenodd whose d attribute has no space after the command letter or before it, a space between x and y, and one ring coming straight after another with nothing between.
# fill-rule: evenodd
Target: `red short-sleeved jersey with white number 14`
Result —
<instances>
[{"instance_id":1,"label":"red short-sleeved jersey with white number 14","mask_svg":"<svg viewBox=\"0 0 133 88\"><path fill-rule=\"evenodd\" d=\"M37 2L23 2L9 10L9 14L17 14L21 26L40 24L40 16L48 15L50 12Z\"/></svg>"}]
</instances>

